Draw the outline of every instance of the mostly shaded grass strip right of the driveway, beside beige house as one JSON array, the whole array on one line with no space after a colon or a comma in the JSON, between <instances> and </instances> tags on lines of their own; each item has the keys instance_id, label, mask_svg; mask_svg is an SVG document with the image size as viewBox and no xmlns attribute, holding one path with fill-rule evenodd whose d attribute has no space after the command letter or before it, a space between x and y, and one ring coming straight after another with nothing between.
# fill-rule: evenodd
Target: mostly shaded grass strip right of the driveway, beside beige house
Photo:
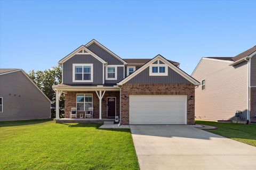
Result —
<instances>
[{"instance_id":1,"label":"mostly shaded grass strip right of the driveway, beside beige house","mask_svg":"<svg viewBox=\"0 0 256 170\"><path fill-rule=\"evenodd\" d=\"M196 120L196 124L204 124L217 127L217 130L207 131L221 135L222 137L230 138L256 147L256 125L237 123L217 123L201 120Z\"/></svg>"}]
</instances>

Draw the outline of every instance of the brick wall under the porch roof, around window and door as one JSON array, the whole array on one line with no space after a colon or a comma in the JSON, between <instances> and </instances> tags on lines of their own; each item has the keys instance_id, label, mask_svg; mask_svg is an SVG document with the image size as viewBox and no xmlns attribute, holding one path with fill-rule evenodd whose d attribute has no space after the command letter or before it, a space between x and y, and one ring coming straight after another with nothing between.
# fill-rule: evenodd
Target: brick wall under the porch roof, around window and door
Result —
<instances>
[{"instance_id":1,"label":"brick wall under the porch roof, around window and door","mask_svg":"<svg viewBox=\"0 0 256 170\"><path fill-rule=\"evenodd\" d=\"M65 118L69 118L69 112L71 107L76 107L76 94L92 94L92 105L93 105L93 118L99 118L99 98L95 91L68 91L65 94ZM106 91L102 99L101 106L101 117L107 118L107 97L116 97L116 116L119 116L119 101L120 94L119 91ZM77 118L79 118L79 113L84 113L83 111L77 111Z\"/></svg>"}]
</instances>

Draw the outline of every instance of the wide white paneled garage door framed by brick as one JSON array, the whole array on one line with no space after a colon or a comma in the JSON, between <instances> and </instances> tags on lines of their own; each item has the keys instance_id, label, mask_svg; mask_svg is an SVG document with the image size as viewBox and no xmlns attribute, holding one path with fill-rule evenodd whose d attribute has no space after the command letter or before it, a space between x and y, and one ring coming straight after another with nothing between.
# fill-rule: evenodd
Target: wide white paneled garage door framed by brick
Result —
<instances>
[{"instance_id":1,"label":"wide white paneled garage door framed by brick","mask_svg":"<svg viewBox=\"0 0 256 170\"><path fill-rule=\"evenodd\" d=\"M187 124L186 95L130 95L130 124Z\"/></svg>"}]
</instances>

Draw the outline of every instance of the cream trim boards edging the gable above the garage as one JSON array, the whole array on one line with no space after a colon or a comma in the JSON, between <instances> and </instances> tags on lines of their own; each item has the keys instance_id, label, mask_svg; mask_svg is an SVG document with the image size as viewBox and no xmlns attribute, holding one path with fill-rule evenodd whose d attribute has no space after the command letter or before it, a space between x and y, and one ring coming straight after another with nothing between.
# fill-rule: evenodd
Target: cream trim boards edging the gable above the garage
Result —
<instances>
[{"instance_id":1,"label":"cream trim boards edging the gable above the garage","mask_svg":"<svg viewBox=\"0 0 256 170\"><path fill-rule=\"evenodd\" d=\"M135 70L132 74L130 74L128 77L124 78L123 80L121 80L120 82L117 83L118 86L122 86L124 83L126 83L127 81L131 80L132 78L134 78L137 74L139 74L140 72L142 72L143 70L145 70L150 64L154 63L156 60L160 59L161 61L163 61L165 64L167 64L172 70L174 70L175 72L177 72L178 74L180 74L183 78L187 79L188 81L190 81L191 83L195 84L195 85L199 85L200 83L194 79L193 77L191 77L190 75L188 75L186 72L182 71L181 69L179 69L179 67L175 66L174 64L172 64L170 61L166 60L166 58L164 58L162 55L158 54L157 56L155 56L154 58L152 58L150 61L148 61L146 64L144 64L143 66L141 66L138 70Z\"/></svg>"}]
</instances>

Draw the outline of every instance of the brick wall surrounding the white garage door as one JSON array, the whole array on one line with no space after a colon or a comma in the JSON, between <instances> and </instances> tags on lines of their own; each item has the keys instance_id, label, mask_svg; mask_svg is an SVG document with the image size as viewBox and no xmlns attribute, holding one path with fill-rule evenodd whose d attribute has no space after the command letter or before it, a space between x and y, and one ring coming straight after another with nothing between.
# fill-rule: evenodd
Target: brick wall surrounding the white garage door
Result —
<instances>
[{"instance_id":1,"label":"brick wall surrounding the white garage door","mask_svg":"<svg viewBox=\"0 0 256 170\"><path fill-rule=\"evenodd\" d=\"M187 95L187 124L195 124L194 84L123 84L121 86L121 124L124 125L129 124L129 95Z\"/></svg>"}]
</instances>

